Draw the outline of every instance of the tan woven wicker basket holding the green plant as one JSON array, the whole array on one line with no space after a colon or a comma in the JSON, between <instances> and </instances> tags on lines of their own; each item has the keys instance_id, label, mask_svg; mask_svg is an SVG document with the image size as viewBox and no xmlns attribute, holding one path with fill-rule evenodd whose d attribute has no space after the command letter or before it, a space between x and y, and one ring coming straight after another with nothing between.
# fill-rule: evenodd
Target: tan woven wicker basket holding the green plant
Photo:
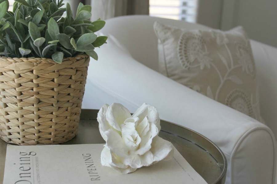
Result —
<instances>
[{"instance_id":1,"label":"tan woven wicker basket holding the green plant","mask_svg":"<svg viewBox=\"0 0 277 184\"><path fill-rule=\"evenodd\" d=\"M0 57L0 137L18 145L59 144L77 133L90 57L61 64Z\"/></svg>"}]
</instances>

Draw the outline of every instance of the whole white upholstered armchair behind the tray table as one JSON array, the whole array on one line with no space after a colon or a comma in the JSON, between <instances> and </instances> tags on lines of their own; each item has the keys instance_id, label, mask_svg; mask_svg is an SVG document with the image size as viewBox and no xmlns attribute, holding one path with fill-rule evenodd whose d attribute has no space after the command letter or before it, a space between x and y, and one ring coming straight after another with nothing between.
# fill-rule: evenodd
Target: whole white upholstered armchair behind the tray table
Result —
<instances>
[{"instance_id":1,"label":"whole white upholstered armchair behind the tray table","mask_svg":"<svg viewBox=\"0 0 277 184\"><path fill-rule=\"evenodd\" d=\"M144 102L160 118L191 128L224 152L226 183L275 183L277 136L277 48L251 40L259 82L261 115L266 125L199 94L158 72L155 21L186 29L208 29L148 16L123 16L106 21L101 30L108 44L91 59L83 109L122 103L134 112ZM275 134L275 135L274 135Z\"/></svg>"}]
</instances>

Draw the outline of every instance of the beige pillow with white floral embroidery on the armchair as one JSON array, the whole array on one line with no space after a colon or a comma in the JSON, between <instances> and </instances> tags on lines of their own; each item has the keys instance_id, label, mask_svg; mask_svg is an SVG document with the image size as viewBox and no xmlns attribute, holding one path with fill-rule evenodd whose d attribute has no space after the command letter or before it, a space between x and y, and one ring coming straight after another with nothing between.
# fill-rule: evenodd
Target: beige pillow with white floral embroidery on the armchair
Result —
<instances>
[{"instance_id":1,"label":"beige pillow with white floral embroidery on the armchair","mask_svg":"<svg viewBox=\"0 0 277 184\"><path fill-rule=\"evenodd\" d=\"M242 27L186 30L155 22L154 29L163 75L263 122L254 58Z\"/></svg>"}]
</instances>

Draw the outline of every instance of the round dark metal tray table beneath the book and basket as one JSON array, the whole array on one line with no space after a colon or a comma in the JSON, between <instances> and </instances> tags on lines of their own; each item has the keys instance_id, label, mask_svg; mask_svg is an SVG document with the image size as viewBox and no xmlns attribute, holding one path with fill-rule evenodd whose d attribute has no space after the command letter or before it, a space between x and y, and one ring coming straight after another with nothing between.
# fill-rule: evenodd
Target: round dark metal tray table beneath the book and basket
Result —
<instances>
[{"instance_id":1,"label":"round dark metal tray table beneath the book and basket","mask_svg":"<svg viewBox=\"0 0 277 184\"><path fill-rule=\"evenodd\" d=\"M63 144L100 144L102 139L96 120L99 110L82 109L77 136ZM225 183L227 161L213 142L188 128L161 120L159 136L170 141L207 183ZM0 184L3 182L6 145L0 140Z\"/></svg>"}]
</instances>

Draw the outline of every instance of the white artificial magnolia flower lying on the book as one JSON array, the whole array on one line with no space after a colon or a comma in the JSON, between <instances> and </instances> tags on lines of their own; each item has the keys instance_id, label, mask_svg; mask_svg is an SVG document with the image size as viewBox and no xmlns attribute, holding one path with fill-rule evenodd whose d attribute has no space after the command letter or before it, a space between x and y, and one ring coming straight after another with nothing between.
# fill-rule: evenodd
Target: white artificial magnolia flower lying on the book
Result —
<instances>
[{"instance_id":1,"label":"white artificial magnolia flower lying on the book","mask_svg":"<svg viewBox=\"0 0 277 184\"><path fill-rule=\"evenodd\" d=\"M173 157L171 142L158 136L161 129L158 111L143 104L131 115L119 103L103 105L98 112L99 130L106 141L101 164L123 174Z\"/></svg>"}]
</instances>

